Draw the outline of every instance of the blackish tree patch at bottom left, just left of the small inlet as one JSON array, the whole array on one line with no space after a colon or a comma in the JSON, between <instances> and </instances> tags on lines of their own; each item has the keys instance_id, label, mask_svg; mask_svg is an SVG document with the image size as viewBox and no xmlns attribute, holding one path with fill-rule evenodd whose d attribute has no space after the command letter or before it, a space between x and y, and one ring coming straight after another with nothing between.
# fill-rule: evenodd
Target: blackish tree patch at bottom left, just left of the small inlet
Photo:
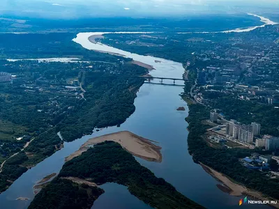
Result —
<instances>
[{"instance_id":1,"label":"blackish tree patch at bottom left, just left of the small inlet","mask_svg":"<svg viewBox=\"0 0 279 209\"><path fill-rule=\"evenodd\" d=\"M31 202L30 209L86 209L103 194L103 189L78 185L71 180L54 178Z\"/></svg>"}]
</instances>

